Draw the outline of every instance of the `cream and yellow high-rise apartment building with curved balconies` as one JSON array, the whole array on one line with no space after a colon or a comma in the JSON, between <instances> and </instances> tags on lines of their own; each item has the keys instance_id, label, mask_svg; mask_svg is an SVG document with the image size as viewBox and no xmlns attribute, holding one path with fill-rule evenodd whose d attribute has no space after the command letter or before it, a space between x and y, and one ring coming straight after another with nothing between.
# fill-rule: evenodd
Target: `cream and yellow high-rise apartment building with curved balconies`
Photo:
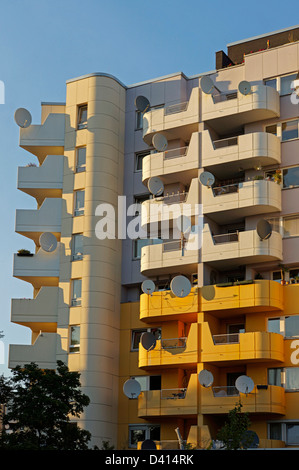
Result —
<instances>
[{"instance_id":1,"label":"cream and yellow high-rise apartment building with curved balconies","mask_svg":"<svg viewBox=\"0 0 299 470\"><path fill-rule=\"evenodd\" d=\"M99 447L175 449L179 429L205 448L239 401L259 446L299 446L299 27L215 59L214 71L130 86L71 79L65 103L42 103L41 123L20 128L36 165L19 168L18 189L37 207L16 212L34 253L14 255L13 275L33 297L12 300L11 321L32 344L11 345L9 367L59 359L79 371L91 399L79 425ZM187 205L180 238L172 208ZM132 239L124 226L138 215L149 235ZM236 386L244 375L249 393ZM132 378L140 393L128 397Z\"/></svg>"}]
</instances>

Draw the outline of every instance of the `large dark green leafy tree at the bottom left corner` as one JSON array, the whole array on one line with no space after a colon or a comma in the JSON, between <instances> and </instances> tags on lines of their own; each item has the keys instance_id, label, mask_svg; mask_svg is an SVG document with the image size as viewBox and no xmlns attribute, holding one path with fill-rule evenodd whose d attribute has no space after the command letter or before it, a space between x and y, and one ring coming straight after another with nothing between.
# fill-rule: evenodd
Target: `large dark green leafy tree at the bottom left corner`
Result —
<instances>
[{"instance_id":1,"label":"large dark green leafy tree at the bottom left corner","mask_svg":"<svg viewBox=\"0 0 299 470\"><path fill-rule=\"evenodd\" d=\"M56 371L30 363L13 369L10 379L2 377L0 397L6 412L0 448L87 450L91 434L71 422L90 402L79 378L61 361Z\"/></svg>"}]
</instances>

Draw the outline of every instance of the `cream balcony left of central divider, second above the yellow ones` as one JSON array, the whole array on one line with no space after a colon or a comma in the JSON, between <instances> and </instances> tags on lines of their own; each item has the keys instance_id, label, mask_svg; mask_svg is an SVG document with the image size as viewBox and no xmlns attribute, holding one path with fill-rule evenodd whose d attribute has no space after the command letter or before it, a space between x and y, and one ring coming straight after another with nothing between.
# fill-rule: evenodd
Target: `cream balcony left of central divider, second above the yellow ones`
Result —
<instances>
[{"instance_id":1,"label":"cream balcony left of central divider, second above the yellow ones","mask_svg":"<svg viewBox=\"0 0 299 470\"><path fill-rule=\"evenodd\" d=\"M188 192L165 194L144 201L141 205L141 226L145 228L149 224L159 222L166 223L169 227L173 220L181 214L188 215L191 220L199 215L199 181L195 178L191 181Z\"/></svg>"}]
</instances>

